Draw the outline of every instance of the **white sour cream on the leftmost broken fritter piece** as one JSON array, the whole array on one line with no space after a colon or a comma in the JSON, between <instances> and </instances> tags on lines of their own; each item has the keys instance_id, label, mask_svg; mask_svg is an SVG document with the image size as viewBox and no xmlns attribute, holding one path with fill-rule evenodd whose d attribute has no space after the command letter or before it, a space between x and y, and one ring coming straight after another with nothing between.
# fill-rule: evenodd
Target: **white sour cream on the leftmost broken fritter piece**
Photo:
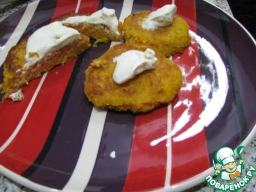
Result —
<instances>
[{"instance_id":1,"label":"white sour cream on the leftmost broken fritter piece","mask_svg":"<svg viewBox=\"0 0 256 192\"><path fill-rule=\"evenodd\" d=\"M27 40L25 55L27 63L23 69L33 66L51 51L59 50L80 38L77 30L65 27L58 21L41 27Z\"/></svg>"}]
</instances>

